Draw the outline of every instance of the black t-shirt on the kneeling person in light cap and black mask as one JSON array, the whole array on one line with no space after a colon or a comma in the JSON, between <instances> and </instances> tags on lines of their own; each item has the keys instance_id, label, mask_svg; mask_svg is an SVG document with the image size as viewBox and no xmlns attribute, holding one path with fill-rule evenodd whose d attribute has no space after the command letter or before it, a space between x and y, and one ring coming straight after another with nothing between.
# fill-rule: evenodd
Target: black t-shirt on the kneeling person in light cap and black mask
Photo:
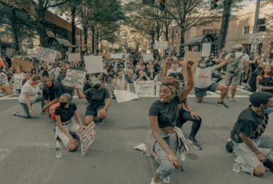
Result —
<instances>
[{"instance_id":1,"label":"black t-shirt on the kneeling person in light cap and black mask","mask_svg":"<svg viewBox=\"0 0 273 184\"><path fill-rule=\"evenodd\" d=\"M94 88L89 88L84 91L84 95L87 96L87 101L92 108L99 108L99 106L105 105L105 99L110 98L108 90L101 87L99 91L94 90Z\"/></svg>"}]
</instances>

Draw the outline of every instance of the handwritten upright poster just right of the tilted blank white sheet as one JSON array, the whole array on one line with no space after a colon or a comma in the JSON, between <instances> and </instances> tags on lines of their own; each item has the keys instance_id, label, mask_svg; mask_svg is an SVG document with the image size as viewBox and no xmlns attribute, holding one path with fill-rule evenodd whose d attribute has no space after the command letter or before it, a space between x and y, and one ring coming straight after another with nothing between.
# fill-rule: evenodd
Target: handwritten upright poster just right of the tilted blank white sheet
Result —
<instances>
[{"instance_id":1,"label":"handwritten upright poster just right of the tilted blank white sheet","mask_svg":"<svg viewBox=\"0 0 273 184\"><path fill-rule=\"evenodd\" d=\"M140 97L155 96L154 81L133 81L135 94Z\"/></svg>"}]
</instances>

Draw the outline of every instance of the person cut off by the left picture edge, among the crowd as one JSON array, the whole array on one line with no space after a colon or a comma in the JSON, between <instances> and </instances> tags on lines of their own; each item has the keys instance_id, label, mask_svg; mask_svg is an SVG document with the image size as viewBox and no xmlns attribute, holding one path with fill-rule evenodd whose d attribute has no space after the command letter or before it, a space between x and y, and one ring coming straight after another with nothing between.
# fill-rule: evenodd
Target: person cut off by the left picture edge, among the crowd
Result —
<instances>
[{"instance_id":1,"label":"person cut off by the left picture edge, among the crowd","mask_svg":"<svg viewBox=\"0 0 273 184\"><path fill-rule=\"evenodd\" d=\"M11 90L11 85L9 84L7 66L7 64L4 64L4 62L0 60L0 90L4 91L6 95L11 95L13 94L13 91Z\"/></svg>"}]
</instances>

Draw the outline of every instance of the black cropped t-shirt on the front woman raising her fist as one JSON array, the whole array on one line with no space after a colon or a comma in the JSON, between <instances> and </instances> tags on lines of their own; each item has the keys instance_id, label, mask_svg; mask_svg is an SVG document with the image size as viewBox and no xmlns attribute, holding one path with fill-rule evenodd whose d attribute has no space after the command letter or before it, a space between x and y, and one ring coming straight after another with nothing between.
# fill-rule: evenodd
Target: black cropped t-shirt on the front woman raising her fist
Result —
<instances>
[{"instance_id":1,"label":"black cropped t-shirt on the front woman raising her fist","mask_svg":"<svg viewBox=\"0 0 273 184\"><path fill-rule=\"evenodd\" d=\"M177 118L179 117L178 104L179 96L173 96L169 103L162 103L160 100L157 100L155 103L152 103L149 115L157 116L160 128L174 127L177 125Z\"/></svg>"}]
</instances>

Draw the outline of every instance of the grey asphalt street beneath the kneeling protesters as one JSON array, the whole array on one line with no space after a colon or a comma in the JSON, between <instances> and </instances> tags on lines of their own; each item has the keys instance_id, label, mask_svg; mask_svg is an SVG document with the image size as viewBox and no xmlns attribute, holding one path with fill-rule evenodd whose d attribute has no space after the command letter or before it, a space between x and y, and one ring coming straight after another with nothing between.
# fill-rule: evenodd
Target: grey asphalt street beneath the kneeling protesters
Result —
<instances>
[{"instance_id":1,"label":"grey asphalt street beneath the kneeling protesters","mask_svg":"<svg viewBox=\"0 0 273 184\"><path fill-rule=\"evenodd\" d=\"M226 102L230 108L216 105L218 93L208 93L204 103L189 97L194 110L203 118L196 139L203 150L192 149L183 163L184 171L174 171L171 183L272 183L273 173L257 178L232 169L234 154L225 151L224 143L231 127L244 108L247 108L247 91L240 88L240 102ZM62 145L62 157L55 157L54 122L39 114L35 104L35 118L26 120L12 115L21 110L16 96L0 97L0 183L125 183L148 184L152 178L149 161L133 147L143 142L150 128L148 110L157 98L140 98L126 103L113 100L104 125L96 125L96 140L87 154L80 150L68 152ZM74 99L82 120L86 100ZM272 122L272 115L270 115ZM183 127L189 135L191 122ZM269 123L267 134L272 133ZM6 153L4 153L4 151ZM4 154L3 154L4 153Z\"/></svg>"}]
</instances>

